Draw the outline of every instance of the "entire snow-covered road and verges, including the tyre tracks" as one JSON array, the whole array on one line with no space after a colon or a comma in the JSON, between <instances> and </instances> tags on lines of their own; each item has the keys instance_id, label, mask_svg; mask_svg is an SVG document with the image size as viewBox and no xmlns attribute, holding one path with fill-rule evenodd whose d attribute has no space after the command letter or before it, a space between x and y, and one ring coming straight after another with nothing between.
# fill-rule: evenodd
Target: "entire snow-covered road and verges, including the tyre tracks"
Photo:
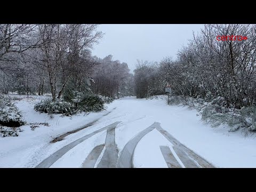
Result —
<instances>
[{"instance_id":1,"label":"entire snow-covered road and verges, including the tyre tracks","mask_svg":"<svg viewBox=\"0 0 256 192\"><path fill-rule=\"evenodd\" d=\"M122 98L99 113L54 118L35 102L17 106L28 123L50 126L0 138L0 167L256 167L254 138L212 129L196 110L162 98Z\"/></svg>"}]
</instances>

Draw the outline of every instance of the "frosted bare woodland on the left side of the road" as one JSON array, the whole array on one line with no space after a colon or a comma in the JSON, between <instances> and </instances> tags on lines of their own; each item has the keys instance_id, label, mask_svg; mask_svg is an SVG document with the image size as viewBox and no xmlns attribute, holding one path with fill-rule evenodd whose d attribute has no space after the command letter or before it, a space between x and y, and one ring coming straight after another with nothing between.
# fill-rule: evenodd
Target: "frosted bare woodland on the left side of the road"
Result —
<instances>
[{"instance_id":1,"label":"frosted bare woodland on the left side of the road","mask_svg":"<svg viewBox=\"0 0 256 192\"><path fill-rule=\"evenodd\" d=\"M0 25L0 92L132 95L127 63L91 54L103 33L94 24Z\"/></svg>"}]
</instances>

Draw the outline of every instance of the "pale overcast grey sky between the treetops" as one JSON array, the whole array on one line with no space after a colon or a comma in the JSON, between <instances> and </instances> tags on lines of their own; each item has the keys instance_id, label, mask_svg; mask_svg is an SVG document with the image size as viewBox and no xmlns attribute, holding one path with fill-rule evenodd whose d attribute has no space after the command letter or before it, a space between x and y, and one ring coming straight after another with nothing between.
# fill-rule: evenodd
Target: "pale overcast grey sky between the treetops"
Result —
<instances>
[{"instance_id":1,"label":"pale overcast grey sky between the treetops","mask_svg":"<svg viewBox=\"0 0 256 192\"><path fill-rule=\"evenodd\" d=\"M105 35L94 46L92 55L126 62L135 69L137 59L161 61L166 56L177 58L177 52L204 25L199 24L103 24L98 27Z\"/></svg>"}]
</instances>

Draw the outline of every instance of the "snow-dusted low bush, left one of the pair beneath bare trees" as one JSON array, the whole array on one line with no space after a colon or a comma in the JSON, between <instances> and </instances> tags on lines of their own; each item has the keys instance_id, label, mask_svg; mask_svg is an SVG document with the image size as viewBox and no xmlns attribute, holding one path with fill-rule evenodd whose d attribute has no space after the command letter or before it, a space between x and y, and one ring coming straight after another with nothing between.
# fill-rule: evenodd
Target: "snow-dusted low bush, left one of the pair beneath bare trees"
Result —
<instances>
[{"instance_id":1,"label":"snow-dusted low bush, left one of the pair beneath bare trees","mask_svg":"<svg viewBox=\"0 0 256 192\"><path fill-rule=\"evenodd\" d=\"M41 113L63 114L66 116L70 116L76 113L73 103L61 100L52 101L51 99L45 99L36 103L34 109Z\"/></svg>"}]
</instances>

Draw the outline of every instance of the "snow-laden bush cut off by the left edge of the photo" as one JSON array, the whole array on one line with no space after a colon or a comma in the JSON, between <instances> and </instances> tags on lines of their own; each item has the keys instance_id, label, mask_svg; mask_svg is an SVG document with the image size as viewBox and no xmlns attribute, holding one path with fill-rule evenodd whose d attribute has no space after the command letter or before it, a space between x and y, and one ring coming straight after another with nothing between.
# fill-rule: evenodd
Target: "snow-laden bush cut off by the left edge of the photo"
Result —
<instances>
[{"instance_id":1,"label":"snow-laden bush cut off by the left edge of the photo","mask_svg":"<svg viewBox=\"0 0 256 192\"><path fill-rule=\"evenodd\" d=\"M10 98L0 96L0 125L18 127L24 125L19 109L12 103Z\"/></svg>"}]
</instances>

